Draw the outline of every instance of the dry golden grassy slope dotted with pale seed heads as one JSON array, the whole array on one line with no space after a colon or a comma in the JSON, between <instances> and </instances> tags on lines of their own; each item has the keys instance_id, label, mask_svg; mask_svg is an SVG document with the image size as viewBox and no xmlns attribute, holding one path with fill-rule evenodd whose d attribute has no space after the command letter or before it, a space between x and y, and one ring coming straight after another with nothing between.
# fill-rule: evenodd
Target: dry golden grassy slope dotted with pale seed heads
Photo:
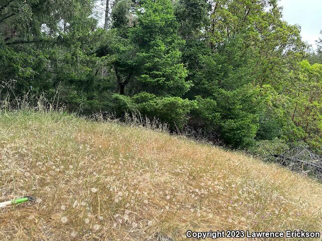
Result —
<instances>
[{"instance_id":1,"label":"dry golden grassy slope dotted with pale seed heads","mask_svg":"<svg viewBox=\"0 0 322 241\"><path fill-rule=\"evenodd\" d=\"M322 186L312 180L184 138L59 113L0 113L0 188L0 201L41 199L0 209L0 240L322 229Z\"/></svg>"}]
</instances>

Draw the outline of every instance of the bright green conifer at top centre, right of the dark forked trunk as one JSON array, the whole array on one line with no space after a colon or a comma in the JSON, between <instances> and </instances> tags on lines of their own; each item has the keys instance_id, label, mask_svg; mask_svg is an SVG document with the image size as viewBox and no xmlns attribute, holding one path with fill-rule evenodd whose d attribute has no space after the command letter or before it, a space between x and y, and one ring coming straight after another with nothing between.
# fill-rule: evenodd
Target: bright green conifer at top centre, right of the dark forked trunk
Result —
<instances>
[{"instance_id":1,"label":"bright green conifer at top centre, right of the dark forked trunk","mask_svg":"<svg viewBox=\"0 0 322 241\"><path fill-rule=\"evenodd\" d=\"M143 1L137 10L137 25L131 29L131 39L138 46L137 92L182 96L191 83L186 81L187 70L181 60L172 2Z\"/></svg>"}]
</instances>

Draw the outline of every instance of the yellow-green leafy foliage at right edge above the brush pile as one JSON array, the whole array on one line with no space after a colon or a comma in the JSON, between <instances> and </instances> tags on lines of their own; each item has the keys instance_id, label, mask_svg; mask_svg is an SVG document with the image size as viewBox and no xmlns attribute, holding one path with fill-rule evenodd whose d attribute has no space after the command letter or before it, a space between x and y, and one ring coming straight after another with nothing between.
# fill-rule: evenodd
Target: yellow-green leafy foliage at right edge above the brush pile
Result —
<instances>
[{"instance_id":1,"label":"yellow-green leafy foliage at right edge above the brush pile","mask_svg":"<svg viewBox=\"0 0 322 241\"><path fill-rule=\"evenodd\" d=\"M290 71L289 78L291 81L285 94L291 102L289 115L300 132L297 140L305 141L316 148L322 145L322 132L319 128L322 111L322 64L310 65L307 60L303 60Z\"/></svg>"}]
</instances>

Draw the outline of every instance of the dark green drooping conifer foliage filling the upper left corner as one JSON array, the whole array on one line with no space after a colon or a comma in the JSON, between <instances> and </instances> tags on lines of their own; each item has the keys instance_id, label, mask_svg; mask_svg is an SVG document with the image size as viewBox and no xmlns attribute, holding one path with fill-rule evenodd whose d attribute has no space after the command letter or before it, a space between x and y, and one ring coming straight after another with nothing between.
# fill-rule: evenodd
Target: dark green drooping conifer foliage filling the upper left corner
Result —
<instances>
[{"instance_id":1,"label":"dark green drooping conifer foliage filling the upper left corner","mask_svg":"<svg viewBox=\"0 0 322 241\"><path fill-rule=\"evenodd\" d=\"M29 93L50 99L60 89L60 100L71 110L75 103L81 104L79 100L96 95L89 94L95 79L93 64L98 62L91 56L91 44L100 35L93 33L97 24L91 16L93 1L5 2L0 6L2 68L13 70L0 74L5 91L16 97Z\"/></svg>"}]
</instances>

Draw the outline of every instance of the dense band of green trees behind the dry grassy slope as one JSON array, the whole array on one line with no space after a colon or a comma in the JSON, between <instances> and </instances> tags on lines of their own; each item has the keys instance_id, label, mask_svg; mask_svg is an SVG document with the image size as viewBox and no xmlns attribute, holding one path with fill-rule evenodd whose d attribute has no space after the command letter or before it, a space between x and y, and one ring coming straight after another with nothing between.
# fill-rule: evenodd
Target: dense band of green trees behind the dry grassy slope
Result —
<instances>
[{"instance_id":1,"label":"dense band of green trees behind the dry grassy slope","mask_svg":"<svg viewBox=\"0 0 322 241\"><path fill-rule=\"evenodd\" d=\"M321 46L305 52L276 2L116 0L104 30L94 0L3 0L2 106L43 96L85 114L139 111L235 148L319 151Z\"/></svg>"}]
</instances>

